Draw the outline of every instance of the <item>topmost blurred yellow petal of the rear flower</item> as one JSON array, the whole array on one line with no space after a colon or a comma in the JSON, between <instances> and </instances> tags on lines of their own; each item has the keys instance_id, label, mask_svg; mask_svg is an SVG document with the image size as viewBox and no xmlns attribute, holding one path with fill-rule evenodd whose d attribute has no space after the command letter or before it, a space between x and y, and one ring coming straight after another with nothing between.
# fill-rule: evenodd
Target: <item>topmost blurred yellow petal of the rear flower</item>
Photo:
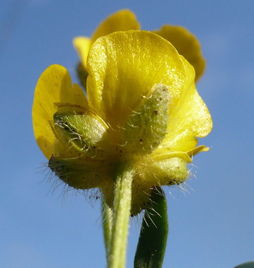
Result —
<instances>
[{"instance_id":1,"label":"topmost blurred yellow petal of the rear flower","mask_svg":"<svg viewBox=\"0 0 254 268\"><path fill-rule=\"evenodd\" d=\"M117 31L139 30L140 24L133 12L128 9L119 10L103 21L92 36L92 43L101 36Z\"/></svg>"}]
</instances>

